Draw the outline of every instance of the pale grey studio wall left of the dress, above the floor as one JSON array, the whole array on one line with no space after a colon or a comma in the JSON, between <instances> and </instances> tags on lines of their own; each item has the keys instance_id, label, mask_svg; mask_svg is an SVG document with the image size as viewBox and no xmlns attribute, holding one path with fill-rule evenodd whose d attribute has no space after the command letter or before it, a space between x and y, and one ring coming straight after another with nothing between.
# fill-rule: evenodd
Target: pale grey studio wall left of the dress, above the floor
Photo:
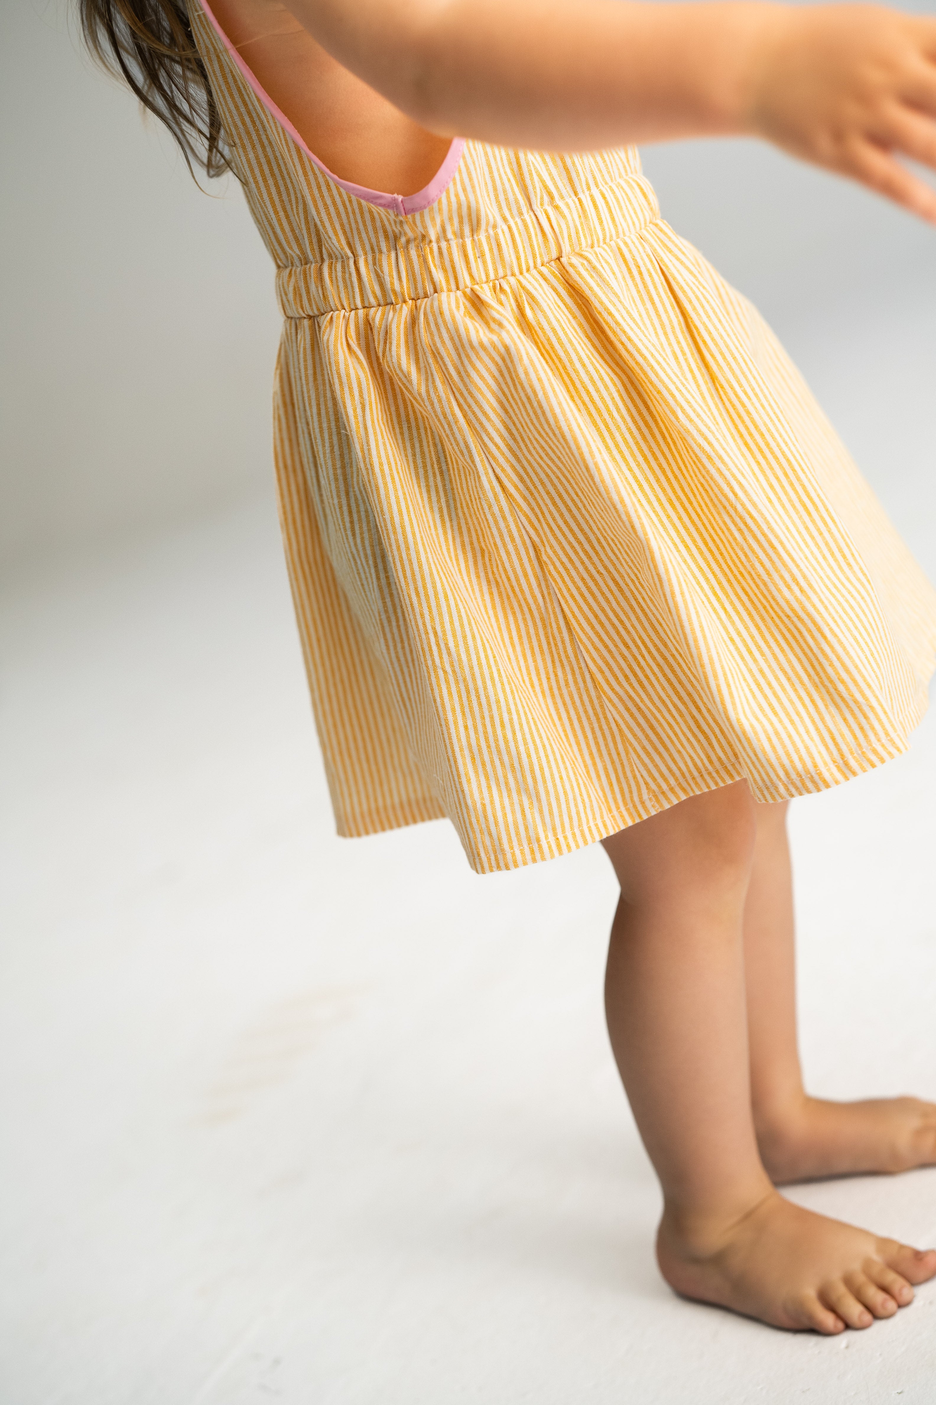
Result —
<instances>
[{"instance_id":1,"label":"pale grey studio wall left of the dress, above the floor","mask_svg":"<svg viewBox=\"0 0 936 1405\"><path fill-rule=\"evenodd\" d=\"M14 562L262 485L278 313L237 184L198 191L83 55L60 0L7 3L3 28L0 554Z\"/></svg>"}]
</instances>

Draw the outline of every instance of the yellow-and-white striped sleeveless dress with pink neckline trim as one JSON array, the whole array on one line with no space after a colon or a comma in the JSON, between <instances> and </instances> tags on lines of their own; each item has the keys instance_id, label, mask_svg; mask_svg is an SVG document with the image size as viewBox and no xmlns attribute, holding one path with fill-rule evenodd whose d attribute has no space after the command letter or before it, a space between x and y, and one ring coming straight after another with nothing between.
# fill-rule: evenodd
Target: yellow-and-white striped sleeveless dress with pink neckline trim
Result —
<instances>
[{"instance_id":1,"label":"yellow-and-white striped sleeveless dress with pink neckline trim","mask_svg":"<svg viewBox=\"0 0 936 1405\"><path fill-rule=\"evenodd\" d=\"M276 264L281 523L338 833L448 816L490 873L905 750L936 593L636 149L453 142L418 195L368 191L191 11Z\"/></svg>"}]
</instances>

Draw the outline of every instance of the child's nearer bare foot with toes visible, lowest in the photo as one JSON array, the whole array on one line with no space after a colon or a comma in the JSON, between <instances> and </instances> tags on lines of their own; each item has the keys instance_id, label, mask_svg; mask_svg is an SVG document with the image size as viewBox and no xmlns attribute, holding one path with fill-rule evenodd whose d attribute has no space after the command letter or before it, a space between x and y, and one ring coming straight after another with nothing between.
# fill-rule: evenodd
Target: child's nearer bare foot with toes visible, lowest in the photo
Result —
<instances>
[{"instance_id":1,"label":"child's nearer bare foot with toes visible, lowest in the photo","mask_svg":"<svg viewBox=\"0 0 936 1405\"><path fill-rule=\"evenodd\" d=\"M827 1336L894 1316L912 1284L936 1274L936 1250L878 1239L827 1220L776 1191L727 1229L686 1229L665 1213L657 1257L685 1297Z\"/></svg>"}]
</instances>

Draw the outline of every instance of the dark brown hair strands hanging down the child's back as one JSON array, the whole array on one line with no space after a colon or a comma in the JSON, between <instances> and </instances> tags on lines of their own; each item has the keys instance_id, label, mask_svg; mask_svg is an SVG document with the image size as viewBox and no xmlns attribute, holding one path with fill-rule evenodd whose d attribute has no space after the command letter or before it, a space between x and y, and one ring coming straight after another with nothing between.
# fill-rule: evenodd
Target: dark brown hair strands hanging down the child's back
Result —
<instances>
[{"instance_id":1,"label":"dark brown hair strands hanging down the child's back","mask_svg":"<svg viewBox=\"0 0 936 1405\"><path fill-rule=\"evenodd\" d=\"M122 76L178 142L185 164L230 169L220 118L185 0L77 0L81 34L100 63ZM192 176L195 173L192 171Z\"/></svg>"}]
</instances>

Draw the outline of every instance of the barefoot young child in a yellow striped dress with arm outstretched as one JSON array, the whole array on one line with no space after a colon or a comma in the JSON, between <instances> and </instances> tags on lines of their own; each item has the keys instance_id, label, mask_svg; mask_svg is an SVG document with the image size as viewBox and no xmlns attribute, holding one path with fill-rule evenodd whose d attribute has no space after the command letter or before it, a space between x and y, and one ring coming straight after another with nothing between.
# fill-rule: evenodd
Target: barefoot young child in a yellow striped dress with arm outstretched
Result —
<instances>
[{"instance_id":1,"label":"barefoot young child in a yellow striped dress with arm outstretched","mask_svg":"<svg viewBox=\"0 0 936 1405\"><path fill-rule=\"evenodd\" d=\"M448 815L479 873L601 840L667 1281L783 1328L892 1315L936 1252L775 1189L936 1163L933 1104L804 1092L784 812L905 749L936 594L630 143L758 135L936 223L898 159L936 167L936 20L80 4L276 264L281 514L340 832Z\"/></svg>"}]
</instances>

